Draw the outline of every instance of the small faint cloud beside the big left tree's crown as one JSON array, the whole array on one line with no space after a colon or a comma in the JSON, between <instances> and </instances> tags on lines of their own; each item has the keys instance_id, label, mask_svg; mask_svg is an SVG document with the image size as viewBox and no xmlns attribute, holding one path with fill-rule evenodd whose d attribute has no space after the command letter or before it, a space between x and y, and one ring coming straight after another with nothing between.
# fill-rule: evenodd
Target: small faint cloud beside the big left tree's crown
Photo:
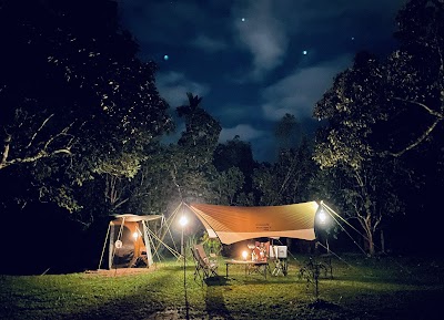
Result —
<instances>
[{"instance_id":1,"label":"small faint cloud beside the big left tree's crown","mask_svg":"<svg viewBox=\"0 0 444 320\"><path fill-rule=\"evenodd\" d=\"M172 106L176 107L188 101L186 92L194 95L205 95L210 89L205 84L191 81L183 73L170 71L157 75L157 86L163 99Z\"/></svg>"}]
</instances>

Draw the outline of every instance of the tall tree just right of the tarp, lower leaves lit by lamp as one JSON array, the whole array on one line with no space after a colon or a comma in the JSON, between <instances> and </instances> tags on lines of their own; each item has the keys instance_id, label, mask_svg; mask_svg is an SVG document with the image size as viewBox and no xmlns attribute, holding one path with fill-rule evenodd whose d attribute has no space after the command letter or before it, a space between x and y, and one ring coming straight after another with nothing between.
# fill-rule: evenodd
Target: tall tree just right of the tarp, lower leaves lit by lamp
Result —
<instances>
[{"instance_id":1,"label":"tall tree just right of the tarp, lower leaves lit by lamp","mask_svg":"<svg viewBox=\"0 0 444 320\"><path fill-rule=\"evenodd\" d=\"M383 73L375 56L357 54L353 66L335 78L314 109L316 117L327 121L317 133L314 159L321 169L334 173L341 185L335 202L357 219L372 256L383 219L401 210L396 184L403 165L380 152L386 147L381 124L390 112L381 94Z\"/></svg>"}]
</instances>

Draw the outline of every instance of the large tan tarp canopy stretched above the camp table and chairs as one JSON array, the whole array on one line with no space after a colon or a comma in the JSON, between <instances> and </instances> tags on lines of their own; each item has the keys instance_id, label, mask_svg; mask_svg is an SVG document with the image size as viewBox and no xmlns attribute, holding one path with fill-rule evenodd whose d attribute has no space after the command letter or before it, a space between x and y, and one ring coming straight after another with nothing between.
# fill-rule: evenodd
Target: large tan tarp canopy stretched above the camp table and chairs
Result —
<instances>
[{"instance_id":1,"label":"large tan tarp canopy stretched above the camp table and chairs","mask_svg":"<svg viewBox=\"0 0 444 320\"><path fill-rule=\"evenodd\" d=\"M233 207L191 204L190 209L206 228L210 237L222 244L261 237L289 237L313 240L315 202L269 207Z\"/></svg>"}]
</instances>

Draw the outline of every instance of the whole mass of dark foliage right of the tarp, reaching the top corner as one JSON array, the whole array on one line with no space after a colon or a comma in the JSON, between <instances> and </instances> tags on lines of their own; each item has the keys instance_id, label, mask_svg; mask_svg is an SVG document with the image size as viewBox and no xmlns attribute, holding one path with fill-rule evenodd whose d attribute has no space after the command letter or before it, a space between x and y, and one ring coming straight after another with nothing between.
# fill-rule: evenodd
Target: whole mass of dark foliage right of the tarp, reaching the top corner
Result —
<instances>
[{"instance_id":1,"label":"whole mass of dark foliage right of the tarp, reaching the top corner","mask_svg":"<svg viewBox=\"0 0 444 320\"><path fill-rule=\"evenodd\" d=\"M425 177L443 156L443 14L442 1L410 1L397 17L400 49L383 61L357 54L314 110L327 122L314 155L334 180L326 193L359 220L371 255L392 215L426 203L417 189L442 185L442 174Z\"/></svg>"}]
</instances>

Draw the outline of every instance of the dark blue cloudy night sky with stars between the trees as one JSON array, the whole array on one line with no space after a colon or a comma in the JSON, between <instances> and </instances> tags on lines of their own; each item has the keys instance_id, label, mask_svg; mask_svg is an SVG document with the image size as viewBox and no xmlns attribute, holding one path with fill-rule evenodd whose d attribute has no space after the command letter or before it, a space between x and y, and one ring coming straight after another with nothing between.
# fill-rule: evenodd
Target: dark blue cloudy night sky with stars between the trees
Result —
<instances>
[{"instance_id":1,"label":"dark blue cloudy night sky with stars between the trees","mask_svg":"<svg viewBox=\"0 0 444 320\"><path fill-rule=\"evenodd\" d=\"M354 54L393 48L395 14L405 1L120 3L142 59L160 66L158 89L171 107L184 103L188 91L203 96L202 107L223 127L221 142L239 135L256 161L273 161L276 122L290 113L313 127L314 103Z\"/></svg>"}]
</instances>

